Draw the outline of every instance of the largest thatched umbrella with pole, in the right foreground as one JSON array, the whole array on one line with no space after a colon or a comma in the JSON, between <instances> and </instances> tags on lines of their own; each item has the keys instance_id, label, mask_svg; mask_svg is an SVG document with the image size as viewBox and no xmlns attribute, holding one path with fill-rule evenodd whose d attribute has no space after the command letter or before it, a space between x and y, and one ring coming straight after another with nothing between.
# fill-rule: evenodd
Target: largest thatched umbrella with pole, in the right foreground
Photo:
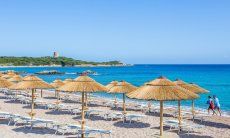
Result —
<instances>
[{"instance_id":1,"label":"largest thatched umbrella with pole, in the right foreground","mask_svg":"<svg viewBox=\"0 0 230 138\"><path fill-rule=\"evenodd\" d=\"M129 98L156 100L160 101L160 136L163 135L163 102L164 101L179 101L179 124L180 119L180 101L198 98L193 92L177 86L172 81L165 77L159 77L139 89L127 94Z\"/></svg>"}]
</instances>

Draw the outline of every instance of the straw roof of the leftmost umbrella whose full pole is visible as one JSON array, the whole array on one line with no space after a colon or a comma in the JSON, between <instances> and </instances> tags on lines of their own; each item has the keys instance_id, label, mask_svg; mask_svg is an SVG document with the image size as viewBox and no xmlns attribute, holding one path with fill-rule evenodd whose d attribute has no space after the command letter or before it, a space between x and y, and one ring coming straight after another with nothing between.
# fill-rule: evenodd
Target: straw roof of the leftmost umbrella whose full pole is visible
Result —
<instances>
[{"instance_id":1,"label":"straw roof of the leftmost umbrella whose full pole is visible","mask_svg":"<svg viewBox=\"0 0 230 138\"><path fill-rule=\"evenodd\" d=\"M34 75L29 75L23 78L23 80L13 86L10 89L51 89L50 84L46 83L42 79Z\"/></svg>"}]
</instances>

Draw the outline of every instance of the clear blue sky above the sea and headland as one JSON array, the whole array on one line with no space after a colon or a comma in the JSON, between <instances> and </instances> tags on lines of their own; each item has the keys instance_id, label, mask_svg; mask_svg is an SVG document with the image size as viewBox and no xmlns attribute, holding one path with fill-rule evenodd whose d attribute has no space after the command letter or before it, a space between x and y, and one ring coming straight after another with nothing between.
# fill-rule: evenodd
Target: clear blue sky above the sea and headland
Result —
<instances>
[{"instance_id":1,"label":"clear blue sky above the sea and headland","mask_svg":"<svg viewBox=\"0 0 230 138\"><path fill-rule=\"evenodd\" d=\"M0 1L0 55L230 63L229 0Z\"/></svg>"}]
</instances>

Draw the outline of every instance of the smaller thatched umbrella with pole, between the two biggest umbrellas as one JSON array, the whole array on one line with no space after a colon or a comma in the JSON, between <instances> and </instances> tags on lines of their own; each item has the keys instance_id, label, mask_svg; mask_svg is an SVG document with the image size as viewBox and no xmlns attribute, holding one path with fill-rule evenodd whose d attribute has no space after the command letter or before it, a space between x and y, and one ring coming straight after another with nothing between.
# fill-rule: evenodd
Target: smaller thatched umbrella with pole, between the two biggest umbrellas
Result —
<instances>
[{"instance_id":1,"label":"smaller thatched umbrella with pole, between the two biggest umbrellas","mask_svg":"<svg viewBox=\"0 0 230 138\"><path fill-rule=\"evenodd\" d=\"M133 86L132 84L121 81L117 83L115 86L113 86L110 90L109 93L122 93L123 94L123 113L124 115L126 114L126 107L125 107L125 93L131 92L136 90L137 87Z\"/></svg>"}]
</instances>

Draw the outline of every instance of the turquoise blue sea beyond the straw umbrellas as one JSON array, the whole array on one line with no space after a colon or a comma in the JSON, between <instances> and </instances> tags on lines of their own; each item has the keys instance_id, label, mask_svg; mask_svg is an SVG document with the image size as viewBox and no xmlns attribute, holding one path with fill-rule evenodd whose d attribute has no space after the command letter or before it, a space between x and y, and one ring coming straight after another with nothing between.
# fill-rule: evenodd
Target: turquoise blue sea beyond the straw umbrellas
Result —
<instances>
[{"instance_id":1,"label":"turquoise blue sea beyond the straw umbrellas","mask_svg":"<svg viewBox=\"0 0 230 138\"><path fill-rule=\"evenodd\" d=\"M0 71L15 70L25 71L29 74L43 70L58 70L66 72L65 75L41 75L42 79L52 82L56 78L62 80L66 78L76 78L76 72L92 70L99 75L91 76L96 81L106 85L112 80L125 80L136 86L141 86L147 81L159 76L165 76L171 80L180 78L186 82L196 83L210 91L209 94L201 94L195 101L196 107L207 108L207 97L216 95L221 104L222 110L230 113L230 65L134 65L128 67L11 67L0 68ZM25 74L26 75L26 74ZM106 93L98 93L103 97L113 97ZM121 97L120 97L121 98ZM176 105L176 102L167 104ZM190 106L191 101L184 101L183 106Z\"/></svg>"}]
</instances>

